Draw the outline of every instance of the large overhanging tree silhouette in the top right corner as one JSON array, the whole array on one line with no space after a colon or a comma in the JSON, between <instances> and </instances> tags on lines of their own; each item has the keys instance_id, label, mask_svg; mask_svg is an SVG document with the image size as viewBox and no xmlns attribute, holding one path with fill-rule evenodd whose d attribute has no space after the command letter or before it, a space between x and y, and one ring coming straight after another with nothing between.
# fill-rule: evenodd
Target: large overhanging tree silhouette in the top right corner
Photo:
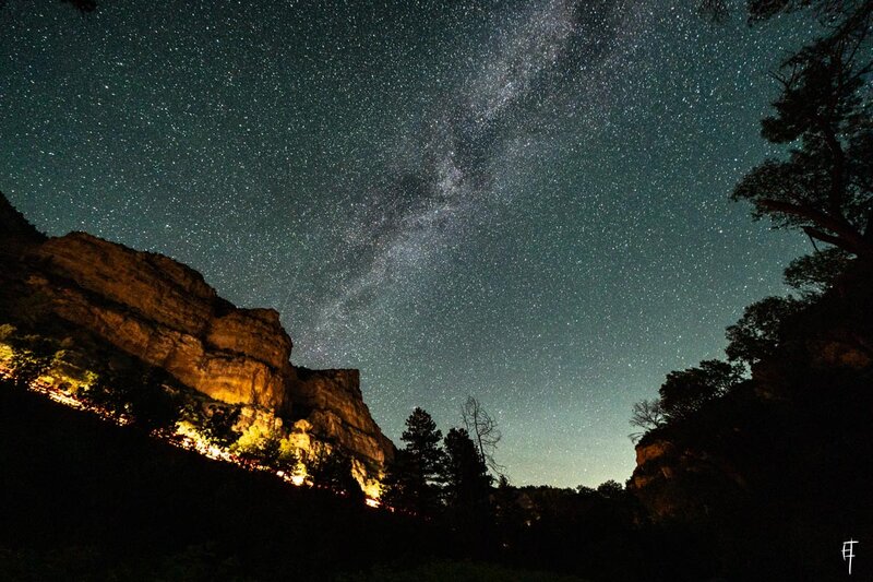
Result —
<instances>
[{"instance_id":1,"label":"large overhanging tree silhouette in the top right corner","mask_svg":"<svg viewBox=\"0 0 873 582\"><path fill-rule=\"evenodd\" d=\"M792 144L788 159L767 159L733 191L775 228L873 261L873 118L869 76L873 2L757 0L753 20L814 5L827 34L782 62L776 115L762 121L770 143Z\"/></svg>"}]
</instances>

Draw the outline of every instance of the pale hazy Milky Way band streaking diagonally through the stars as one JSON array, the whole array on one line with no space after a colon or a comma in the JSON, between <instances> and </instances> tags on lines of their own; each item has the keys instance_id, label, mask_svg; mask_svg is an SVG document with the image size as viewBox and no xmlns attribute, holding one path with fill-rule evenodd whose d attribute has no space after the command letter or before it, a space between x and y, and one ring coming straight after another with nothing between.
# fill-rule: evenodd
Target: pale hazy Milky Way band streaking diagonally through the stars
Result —
<instances>
[{"instance_id":1,"label":"pale hazy Milky Way band streaking diagonally through the stars","mask_svg":"<svg viewBox=\"0 0 873 582\"><path fill-rule=\"evenodd\" d=\"M562 81L579 81L578 69L601 67L619 50L613 32L624 10L554 1L513 14L475 67L438 93L418 129L395 136L403 152L348 202L340 256L328 266L340 283L321 306L310 349L330 358L356 328L378 325L386 287L417 295L445 247L467 245L465 231L495 212L492 203L510 202L513 185L499 187L500 175L531 146L538 121L557 117L537 110Z\"/></svg>"}]
</instances>

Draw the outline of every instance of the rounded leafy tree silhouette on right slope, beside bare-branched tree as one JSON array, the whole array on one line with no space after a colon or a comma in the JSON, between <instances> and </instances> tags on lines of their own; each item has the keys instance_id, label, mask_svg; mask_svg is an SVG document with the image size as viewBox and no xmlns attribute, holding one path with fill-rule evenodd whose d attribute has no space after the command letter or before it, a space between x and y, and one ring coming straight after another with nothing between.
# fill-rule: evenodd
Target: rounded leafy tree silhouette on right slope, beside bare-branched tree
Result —
<instances>
[{"instance_id":1,"label":"rounded leafy tree silhouette on right slope, beside bare-branched tree","mask_svg":"<svg viewBox=\"0 0 873 582\"><path fill-rule=\"evenodd\" d=\"M717 359L668 373L659 390L665 414L671 420L691 416L704 404L727 394L742 380L742 366Z\"/></svg>"}]
</instances>

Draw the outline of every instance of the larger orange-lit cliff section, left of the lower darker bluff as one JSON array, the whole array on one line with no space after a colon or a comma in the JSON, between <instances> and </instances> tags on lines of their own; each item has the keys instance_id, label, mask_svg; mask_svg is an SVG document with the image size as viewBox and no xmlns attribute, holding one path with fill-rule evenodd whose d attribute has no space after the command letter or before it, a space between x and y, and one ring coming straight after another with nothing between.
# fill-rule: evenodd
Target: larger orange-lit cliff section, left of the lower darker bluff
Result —
<instances>
[{"instance_id":1,"label":"larger orange-lit cliff section, left of the lower darker bluff","mask_svg":"<svg viewBox=\"0 0 873 582\"><path fill-rule=\"evenodd\" d=\"M294 376L278 313L237 309L195 271L74 233L35 247L29 283L64 319L232 404L284 409Z\"/></svg>"}]
</instances>

